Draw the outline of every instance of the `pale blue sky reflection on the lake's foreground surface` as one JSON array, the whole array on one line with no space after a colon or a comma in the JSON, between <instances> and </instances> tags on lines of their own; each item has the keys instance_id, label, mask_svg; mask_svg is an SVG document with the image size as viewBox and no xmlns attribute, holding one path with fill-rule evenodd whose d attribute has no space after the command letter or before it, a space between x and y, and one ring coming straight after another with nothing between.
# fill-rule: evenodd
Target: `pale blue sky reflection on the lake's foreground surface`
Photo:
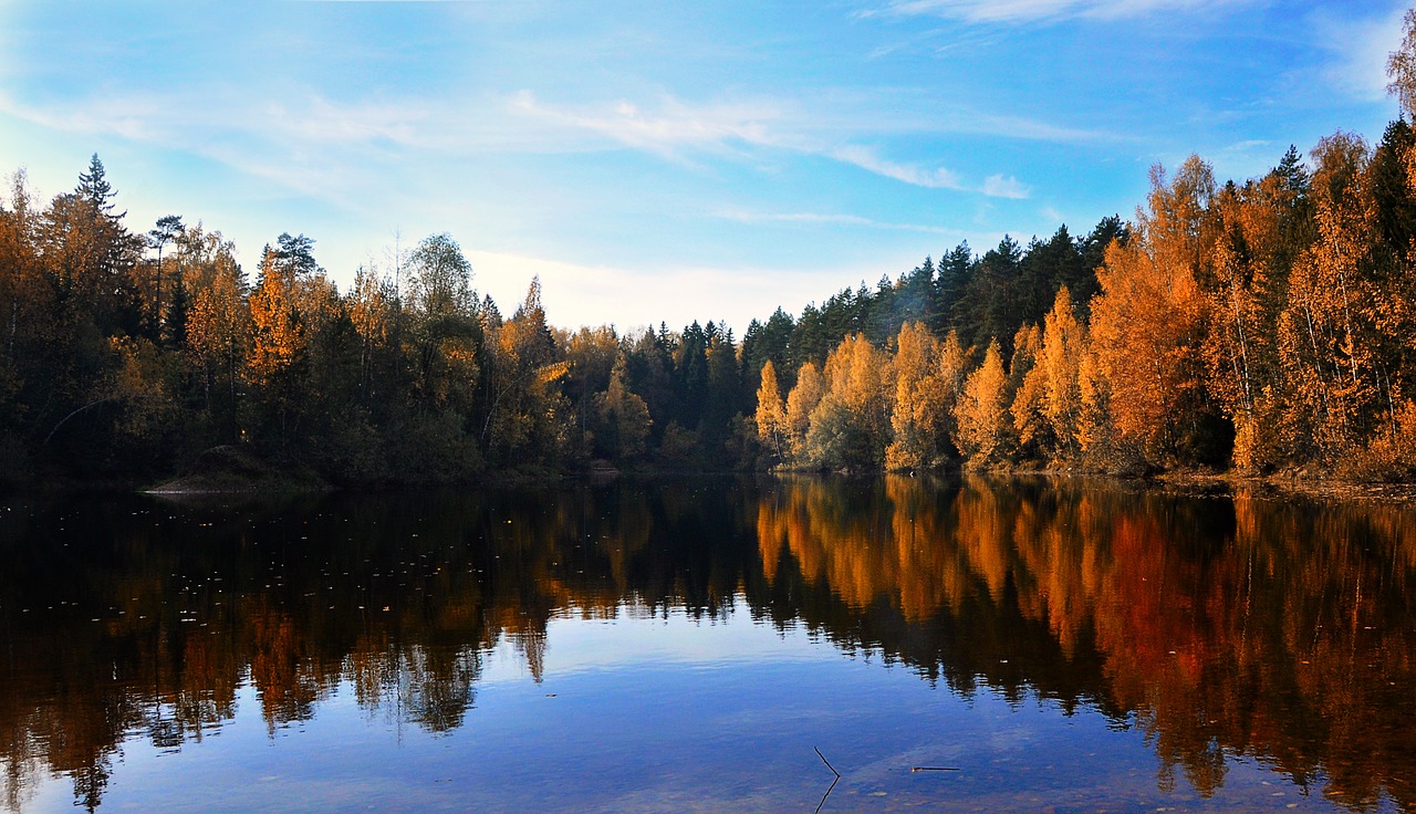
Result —
<instances>
[{"instance_id":1,"label":"pale blue sky reflection on the lake's foreground surface","mask_svg":"<svg viewBox=\"0 0 1416 814\"><path fill-rule=\"evenodd\" d=\"M755 623L741 599L726 620L559 616L544 681L498 644L446 733L361 708L347 682L273 736L259 709L246 682L235 719L200 743L163 753L130 738L103 810L811 811L831 781L813 747L844 776L823 811L1334 808L1249 760L1231 760L1209 800L1182 776L1157 789L1143 735L1086 706L960 698ZM25 810L72 810L71 781L44 781Z\"/></svg>"}]
</instances>

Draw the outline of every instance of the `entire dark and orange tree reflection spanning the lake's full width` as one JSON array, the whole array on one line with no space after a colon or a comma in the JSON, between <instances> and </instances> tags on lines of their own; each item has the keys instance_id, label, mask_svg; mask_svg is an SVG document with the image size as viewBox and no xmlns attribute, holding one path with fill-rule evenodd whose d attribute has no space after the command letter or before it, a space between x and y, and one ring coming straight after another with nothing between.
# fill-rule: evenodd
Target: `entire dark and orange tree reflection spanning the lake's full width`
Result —
<instances>
[{"instance_id":1,"label":"entire dark and orange tree reflection spanning the lake's full width","mask_svg":"<svg viewBox=\"0 0 1416 814\"><path fill-rule=\"evenodd\" d=\"M1242 753L1354 808L1416 801L1416 528L1398 507L891 477L16 508L10 808L44 770L96 806L125 738L200 740L245 681L272 730L348 685L446 732L489 648L542 677L552 617L722 617L738 596L961 694L1093 705L1146 733L1163 783L1212 793Z\"/></svg>"}]
</instances>

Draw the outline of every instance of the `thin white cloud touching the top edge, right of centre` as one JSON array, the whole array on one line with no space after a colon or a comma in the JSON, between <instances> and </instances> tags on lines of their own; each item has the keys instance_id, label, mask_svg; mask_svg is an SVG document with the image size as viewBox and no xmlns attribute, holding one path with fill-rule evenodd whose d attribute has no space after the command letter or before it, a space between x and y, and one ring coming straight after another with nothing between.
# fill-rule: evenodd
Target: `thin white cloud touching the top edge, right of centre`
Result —
<instances>
[{"instance_id":1,"label":"thin white cloud touching the top edge, right of centre","mask_svg":"<svg viewBox=\"0 0 1416 814\"><path fill-rule=\"evenodd\" d=\"M1247 6L1256 0L893 0L867 16L933 16L967 23L1029 23L1072 17L1119 20L1160 11Z\"/></svg>"}]
</instances>

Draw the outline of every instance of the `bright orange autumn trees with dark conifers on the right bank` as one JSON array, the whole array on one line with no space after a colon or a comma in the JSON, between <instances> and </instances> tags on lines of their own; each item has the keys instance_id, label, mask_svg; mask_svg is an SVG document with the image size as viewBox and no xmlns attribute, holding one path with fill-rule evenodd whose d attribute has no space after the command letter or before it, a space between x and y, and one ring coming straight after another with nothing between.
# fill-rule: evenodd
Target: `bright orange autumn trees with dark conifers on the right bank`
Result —
<instances>
[{"instance_id":1,"label":"bright orange autumn trees with dark conifers on the right bank","mask_svg":"<svg viewBox=\"0 0 1416 814\"><path fill-rule=\"evenodd\" d=\"M1290 147L1223 184L1191 157L1153 168L1136 218L1089 239L1020 253L1005 238L943 273L926 259L871 297L916 309L885 341L877 327L824 360L787 354L789 377L763 364L759 437L806 469L1410 478L1413 142L1399 119L1375 149L1337 133L1311 164Z\"/></svg>"}]
</instances>

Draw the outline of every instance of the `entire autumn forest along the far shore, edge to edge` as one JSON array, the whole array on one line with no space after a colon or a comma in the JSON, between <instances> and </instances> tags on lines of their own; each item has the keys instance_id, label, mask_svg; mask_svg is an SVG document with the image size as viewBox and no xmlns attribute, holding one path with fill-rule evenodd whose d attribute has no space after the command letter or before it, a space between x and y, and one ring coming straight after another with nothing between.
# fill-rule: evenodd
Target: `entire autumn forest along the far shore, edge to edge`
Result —
<instances>
[{"instance_id":1,"label":"entire autumn forest along the far shore, edge to edge","mask_svg":"<svg viewBox=\"0 0 1416 814\"><path fill-rule=\"evenodd\" d=\"M280 235L253 280L93 156L0 201L0 486L416 486L617 471L1056 470L1416 478L1416 133L1335 133L1130 222L926 258L739 338L511 316L446 234L338 290ZM176 481L171 478L177 477Z\"/></svg>"}]
</instances>

